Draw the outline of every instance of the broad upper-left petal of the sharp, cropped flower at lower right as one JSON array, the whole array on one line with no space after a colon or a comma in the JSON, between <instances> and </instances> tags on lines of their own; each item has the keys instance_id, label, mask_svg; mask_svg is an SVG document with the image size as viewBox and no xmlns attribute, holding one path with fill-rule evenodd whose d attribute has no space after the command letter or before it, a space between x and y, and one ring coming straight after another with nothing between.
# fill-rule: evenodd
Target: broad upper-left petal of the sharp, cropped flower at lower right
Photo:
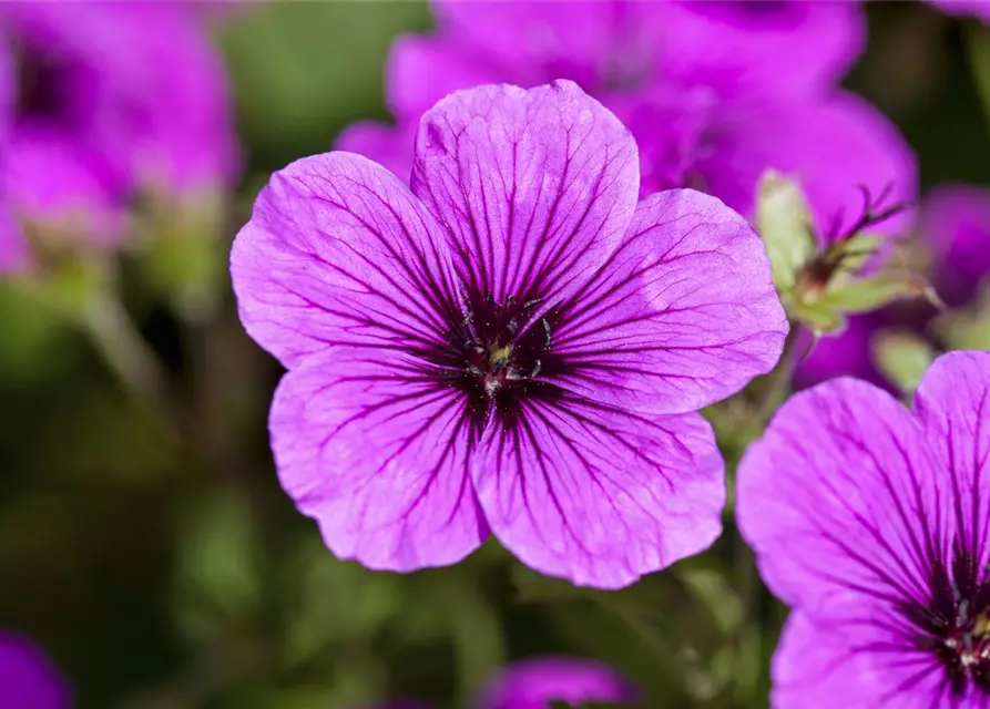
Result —
<instances>
[{"instance_id":1,"label":"broad upper-left petal of the sharp, cropped flower at lower right","mask_svg":"<svg viewBox=\"0 0 990 709\"><path fill-rule=\"evenodd\" d=\"M947 479L905 407L837 379L792 397L749 446L736 517L777 596L819 620L877 624L926 605L951 538Z\"/></svg>"}]
</instances>

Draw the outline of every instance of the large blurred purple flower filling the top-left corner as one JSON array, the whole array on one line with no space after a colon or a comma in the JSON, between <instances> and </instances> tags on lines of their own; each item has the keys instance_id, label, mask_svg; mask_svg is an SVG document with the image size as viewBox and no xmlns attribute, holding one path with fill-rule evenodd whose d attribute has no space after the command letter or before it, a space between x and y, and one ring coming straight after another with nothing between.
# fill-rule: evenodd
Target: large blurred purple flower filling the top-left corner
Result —
<instances>
[{"instance_id":1,"label":"large blurred purple flower filling the top-left corner","mask_svg":"<svg viewBox=\"0 0 990 709\"><path fill-rule=\"evenodd\" d=\"M236 176L222 65L180 3L7 3L0 30L0 198L16 227L111 244L133 193L182 199ZM23 235L0 238L6 253Z\"/></svg>"}]
</instances>

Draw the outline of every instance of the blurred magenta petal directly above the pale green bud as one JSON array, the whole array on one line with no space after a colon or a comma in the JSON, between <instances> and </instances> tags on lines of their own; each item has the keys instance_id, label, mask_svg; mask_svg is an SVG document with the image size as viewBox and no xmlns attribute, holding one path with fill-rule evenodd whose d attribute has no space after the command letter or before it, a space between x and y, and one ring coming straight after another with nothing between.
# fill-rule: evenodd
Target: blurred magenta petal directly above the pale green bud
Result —
<instances>
[{"instance_id":1,"label":"blurred magenta petal directly above the pale green bud","mask_svg":"<svg viewBox=\"0 0 990 709\"><path fill-rule=\"evenodd\" d=\"M702 172L712 192L744 214L752 214L756 184L767 167L802 181L823 230L837 217L848 225L861 214L858 185L875 196L889 187L890 203L917 194L917 161L910 147L892 123L854 94L777 104L734 117ZM899 217L879 228L897 234L906 225Z\"/></svg>"}]
</instances>

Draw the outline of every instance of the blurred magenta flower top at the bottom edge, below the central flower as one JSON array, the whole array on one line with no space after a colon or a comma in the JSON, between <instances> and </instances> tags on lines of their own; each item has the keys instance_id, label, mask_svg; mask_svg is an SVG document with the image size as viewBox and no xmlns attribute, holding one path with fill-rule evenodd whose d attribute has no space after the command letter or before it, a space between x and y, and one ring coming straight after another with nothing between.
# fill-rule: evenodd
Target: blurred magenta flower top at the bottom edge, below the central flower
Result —
<instances>
[{"instance_id":1,"label":"blurred magenta flower top at the bottom edge, below the central flower","mask_svg":"<svg viewBox=\"0 0 990 709\"><path fill-rule=\"evenodd\" d=\"M491 680L479 709L548 709L552 701L573 707L588 702L636 701L639 691L615 670L592 660L543 657L514 662Z\"/></svg>"}]
</instances>

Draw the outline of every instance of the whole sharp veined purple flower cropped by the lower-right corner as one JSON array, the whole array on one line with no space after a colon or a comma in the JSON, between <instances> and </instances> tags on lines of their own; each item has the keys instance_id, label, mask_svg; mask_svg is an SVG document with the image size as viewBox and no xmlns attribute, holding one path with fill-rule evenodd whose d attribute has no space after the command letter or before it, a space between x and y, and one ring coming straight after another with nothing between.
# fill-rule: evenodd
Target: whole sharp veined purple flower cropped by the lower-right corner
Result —
<instances>
[{"instance_id":1,"label":"whole sharp veined purple flower cropped by the lower-right corner","mask_svg":"<svg viewBox=\"0 0 990 709\"><path fill-rule=\"evenodd\" d=\"M931 366L909 411L839 379L796 394L738 470L737 517L793 607L777 708L990 701L990 353Z\"/></svg>"}]
</instances>

